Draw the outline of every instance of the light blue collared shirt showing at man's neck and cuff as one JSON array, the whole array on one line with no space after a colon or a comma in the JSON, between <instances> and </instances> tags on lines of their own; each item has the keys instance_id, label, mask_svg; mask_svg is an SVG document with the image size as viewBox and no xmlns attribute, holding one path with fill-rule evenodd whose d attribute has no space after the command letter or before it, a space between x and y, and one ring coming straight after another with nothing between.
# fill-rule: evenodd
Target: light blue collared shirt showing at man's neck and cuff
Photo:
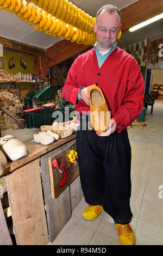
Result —
<instances>
[{"instance_id":1,"label":"light blue collared shirt showing at man's neck and cuff","mask_svg":"<svg viewBox=\"0 0 163 256\"><path fill-rule=\"evenodd\" d=\"M110 53L115 50L116 46L117 46L117 43L115 42L115 44L111 47L110 51L109 51L108 53L106 53L106 54L103 56L103 55L98 51L97 42L95 43L95 45L94 45L93 47L95 48L95 52L96 52L96 56L97 56L97 61L98 61L98 66L99 66L99 68L101 68L102 64L104 63L104 61L106 60L106 58L108 58L108 56L110 55ZM80 88L80 90L81 90L82 88L85 88L85 87L82 86L82 87ZM78 100L81 100L81 99L82 99L82 97L80 96L80 90L79 90L79 92L78 92Z\"/></svg>"}]
</instances>

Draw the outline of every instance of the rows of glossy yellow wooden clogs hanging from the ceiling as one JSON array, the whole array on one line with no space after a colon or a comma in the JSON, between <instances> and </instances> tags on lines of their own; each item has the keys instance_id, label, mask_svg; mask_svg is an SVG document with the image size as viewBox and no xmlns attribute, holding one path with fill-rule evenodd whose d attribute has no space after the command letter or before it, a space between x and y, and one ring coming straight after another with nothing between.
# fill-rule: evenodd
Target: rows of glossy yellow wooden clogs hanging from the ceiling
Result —
<instances>
[{"instance_id":1,"label":"rows of glossy yellow wooden clogs hanging from the ceiling","mask_svg":"<svg viewBox=\"0 0 163 256\"><path fill-rule=\"evenodd\" d=\"M96 17L86 14L68 0L0 0L0 9L16 13L17 17L36 31L58 36L77 44L94 45Z\"/></svg>"}]
</instances>

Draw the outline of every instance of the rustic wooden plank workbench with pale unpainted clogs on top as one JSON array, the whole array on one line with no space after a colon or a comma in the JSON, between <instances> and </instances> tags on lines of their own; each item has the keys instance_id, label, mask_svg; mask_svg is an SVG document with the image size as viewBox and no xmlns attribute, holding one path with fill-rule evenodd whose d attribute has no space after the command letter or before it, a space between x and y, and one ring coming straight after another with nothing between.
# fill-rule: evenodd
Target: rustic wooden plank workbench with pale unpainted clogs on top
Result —
<instances>
[{"instance_id":1,"label":"rustic wooden plank workbench with pale unpainted clogs on top","mask_svg":"<svg viewBox=\"0 0 163 256\"><path fill-rule=\"evenodd\" d=\"M14 234L17 245L47 245L70 220L73 209L82 199L78 164L73 180L62 187L57 198L52 198L49 172L51 159L67 154L69 148L76 149L76 134L49 145L30 141L26 146L28 156L8 162L4 173ZM3 230L0 245L11 245L1 200L0 229Z\"/></svg>"}]
</instances>

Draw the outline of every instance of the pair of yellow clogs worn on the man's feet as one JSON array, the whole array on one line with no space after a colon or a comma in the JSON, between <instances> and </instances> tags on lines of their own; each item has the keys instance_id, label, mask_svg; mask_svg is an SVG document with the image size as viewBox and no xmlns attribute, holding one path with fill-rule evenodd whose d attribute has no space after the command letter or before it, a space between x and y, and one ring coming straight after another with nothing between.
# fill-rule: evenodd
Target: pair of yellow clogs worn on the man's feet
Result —
<instances>
[{"instance_id":1,"label":"pair of yellow clogs worn on the man's feet","mask_svg":"<svg viewBox=\"0 0 163 256\"><path fill-rule=\"evenodd\" d=\"M100 205L89 205L83 212L83 217L92 221L104 211ZM115 224L122 245L135 245L135 235L129 224Z\"/></svg>"}]
</instances>

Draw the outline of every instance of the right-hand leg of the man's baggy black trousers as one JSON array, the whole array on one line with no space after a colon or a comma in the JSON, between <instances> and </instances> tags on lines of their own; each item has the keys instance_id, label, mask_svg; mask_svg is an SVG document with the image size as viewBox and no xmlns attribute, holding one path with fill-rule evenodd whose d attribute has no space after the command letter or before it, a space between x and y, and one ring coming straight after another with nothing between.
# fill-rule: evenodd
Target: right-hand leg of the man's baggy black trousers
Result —
<instances>
[{"instance_id":1,"label":"right-hand leg of the man's baggy black trousers","mask_svg":"<svg viewBox=\"0 0 163 256\"><path fill-rule=\"evenodd\" d=\"M131 148L124 130L113 133L113 144L108 155L105 155L105 201L104 210L114 218L116 223L127 224L131 221Z\"/></svg>"}]
</instances>

